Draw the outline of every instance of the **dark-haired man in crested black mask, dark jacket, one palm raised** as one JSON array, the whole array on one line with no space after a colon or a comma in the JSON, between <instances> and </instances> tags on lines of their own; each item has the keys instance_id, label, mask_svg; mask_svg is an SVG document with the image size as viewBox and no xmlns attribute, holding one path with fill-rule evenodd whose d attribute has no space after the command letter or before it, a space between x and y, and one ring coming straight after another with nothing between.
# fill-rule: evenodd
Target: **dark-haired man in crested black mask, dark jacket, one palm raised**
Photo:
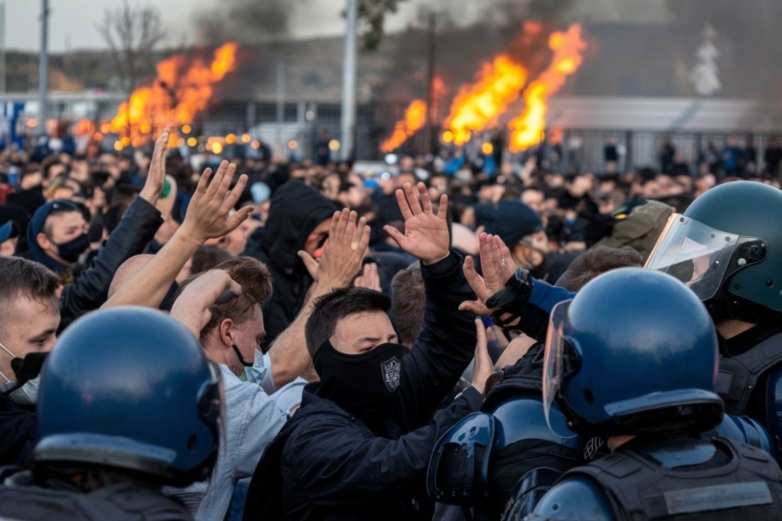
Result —
<instances>
[{"instance_id":1,"label":"dark-haired man in crested black mask, dark jacket, one palm raised","mask_svg":"<svg viewBox=\"0 0 782 521\"><path fill-rule=\"evenodd\" d=\"M475 316L457 309L472 292L461 256L448 249L447 197L437 213L422 183L405 184L396 199L405 233L386 232L421 260L423 331L403 348L378 291L343 287L315 302L305 334L321 381L305 387L264 452L244 519L432 519L424 487L432 446L479 405L491 362L476 349L473 387L434 414L472 359Z\"/></svg>"}]
</instances>

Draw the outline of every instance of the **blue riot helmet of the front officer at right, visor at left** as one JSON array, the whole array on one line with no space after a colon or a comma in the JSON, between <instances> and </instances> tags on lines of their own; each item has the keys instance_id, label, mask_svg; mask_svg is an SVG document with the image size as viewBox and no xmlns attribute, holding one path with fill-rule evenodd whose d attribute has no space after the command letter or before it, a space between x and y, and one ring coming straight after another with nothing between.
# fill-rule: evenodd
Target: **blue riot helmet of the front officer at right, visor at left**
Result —
<instances>
[{"instance_id":1,"label":"blue riot helmet of the front officer at right, visor at left","mask_svg":"<svg viewBox=\"0 0 782 521\"><path fill-rule=\"evenodd\" d=\"M652 269L591 280L551 311L543 405L579 434L616 436L712 429L717 337L698 296ZM551 420L549 420L551 426Z\"/></svg>"}]
</instances>

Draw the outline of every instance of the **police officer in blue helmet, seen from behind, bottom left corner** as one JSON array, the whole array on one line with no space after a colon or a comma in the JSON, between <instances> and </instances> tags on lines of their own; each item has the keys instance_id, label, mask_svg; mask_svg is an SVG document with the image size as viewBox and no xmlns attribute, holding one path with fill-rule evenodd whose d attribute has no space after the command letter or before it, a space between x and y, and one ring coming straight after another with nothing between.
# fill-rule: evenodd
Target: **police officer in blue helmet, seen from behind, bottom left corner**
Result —
<instances>
[{"instance_id":1,"label":"police officer in blue helmet, seen from behind, bottom left corner","mask_svg":"<svg viewBox=\"0 0 782 521\"><path fill-rule=\"evenodd\" d=\"M192 519L160 488L210 475L221 409L219 369L176 320L91 313L48 355L34 470L2 469L0 517Z\"/></svg>"}]
</instances>

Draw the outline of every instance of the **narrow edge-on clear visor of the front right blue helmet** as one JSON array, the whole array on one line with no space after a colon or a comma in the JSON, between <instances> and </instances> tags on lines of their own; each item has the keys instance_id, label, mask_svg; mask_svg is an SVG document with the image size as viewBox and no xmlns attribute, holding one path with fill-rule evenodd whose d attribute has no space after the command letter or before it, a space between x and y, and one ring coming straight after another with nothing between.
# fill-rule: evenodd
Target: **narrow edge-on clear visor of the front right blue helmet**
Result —
<instances>
[{"instance_id":1,"label":"narrow edge-on clear visor of the front right blue helmet","mask_svg":"<svg viewBox=\"0 0 782 521\"><path fill-rule=\"evenodd\" d=\"M546 351L543 355L543 411L551 432L559 437L569 438L576 434L569 430L560 413L552 411L554 399L564 394L565 380L578 369L578 353L567 337L569 330L568 309L572 301L564 301L554 306L548 321Z\"/></svg>"}]
</instances>

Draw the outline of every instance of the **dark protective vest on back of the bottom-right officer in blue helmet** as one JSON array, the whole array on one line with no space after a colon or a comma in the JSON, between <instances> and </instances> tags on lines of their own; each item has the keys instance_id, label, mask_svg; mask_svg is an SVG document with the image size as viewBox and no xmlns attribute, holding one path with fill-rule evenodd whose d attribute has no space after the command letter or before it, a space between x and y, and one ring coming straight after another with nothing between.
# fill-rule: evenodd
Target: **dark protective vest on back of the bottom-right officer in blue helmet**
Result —
<instances>
[{"instance_id":1,"label":"dark protective vest on back of the bottom-right officer in blue helmet","mask_svg":"<svg viewBox=\"0 0 782 521\"><path fill-rule=\"evenodd\" d=\"M608 497L617 521L782 519L782 471L771 456L725 438L712 443L729 457L724 465L665 468L659 461L683 464L666 444L657 452L616 452L569 470L561 481L592 478Z\"/></svg>"}]
</instances>

